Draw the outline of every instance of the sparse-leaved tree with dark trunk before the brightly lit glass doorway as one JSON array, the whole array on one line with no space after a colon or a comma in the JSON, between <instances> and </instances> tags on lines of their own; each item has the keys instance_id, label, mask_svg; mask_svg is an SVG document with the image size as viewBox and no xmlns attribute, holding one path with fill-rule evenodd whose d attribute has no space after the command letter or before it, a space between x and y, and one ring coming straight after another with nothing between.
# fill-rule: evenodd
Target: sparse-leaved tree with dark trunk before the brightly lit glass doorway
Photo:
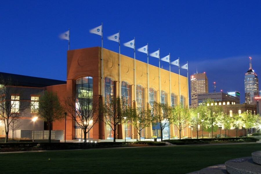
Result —
<instances>
[{"instance_id":1,"label":"sparse-leaved tree with dark trunk before the brightly lit glass doorway","mask_svg":"<svg viewBox=\"0 0 261 174\"><path fill-rule=\"evenodd\" d=\"M153 102L152 122L160 124L161 141L163 140L163 130L169 126L172 108L165 103Z\"/></svg>"}]
</instances>

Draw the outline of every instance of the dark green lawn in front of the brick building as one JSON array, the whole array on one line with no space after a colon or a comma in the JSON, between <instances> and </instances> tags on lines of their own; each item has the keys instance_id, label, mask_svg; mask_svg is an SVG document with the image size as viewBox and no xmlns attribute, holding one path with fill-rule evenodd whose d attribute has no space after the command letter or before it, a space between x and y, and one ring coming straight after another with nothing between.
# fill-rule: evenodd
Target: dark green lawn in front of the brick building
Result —
<instances>
[{"instance_id":1,"label":"dark green lawn in front of the brick building","mask_svg":"<svg viewBox=\"0 0 261 174\"><path fill-rule=\"evenodd\" d=\"M1 173L189 173L251 156L261 144L153 146L2 153ZM49 160L50 158L50 160Z\"/></svg>"}]
</instances>

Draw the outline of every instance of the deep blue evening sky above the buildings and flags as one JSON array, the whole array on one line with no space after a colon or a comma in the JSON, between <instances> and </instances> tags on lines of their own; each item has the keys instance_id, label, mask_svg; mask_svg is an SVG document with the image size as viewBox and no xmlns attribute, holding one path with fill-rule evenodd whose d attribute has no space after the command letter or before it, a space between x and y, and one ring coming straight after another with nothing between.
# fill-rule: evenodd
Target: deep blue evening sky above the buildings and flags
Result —
<instances>
[{"instance_id":1,"label":"deep blue evening sky above the buildings and flags","mask_svg":"<svg viewBox=\"0 0 261 174\"><path fill-rule=\"evenodd\" d=\"M101 46L89 29L103 23L104 48L119 51L107 36L120 30L121 54L133 57L123 43L135 37L137 48L160 48L189 76L206 72L209 92L239 91L244 102L244 73L261 74L261 1L1 1L1 72L66 80L68 41L59 34L70 28L70 50ZM146 54L136 51L146 62ZM149 57L158 66L158 59ZM168 63L161 61L164 69ZM171 71L178 73L178 67ZM185 69L180 74L187 76Z\"/></svg>"}]
</instances>

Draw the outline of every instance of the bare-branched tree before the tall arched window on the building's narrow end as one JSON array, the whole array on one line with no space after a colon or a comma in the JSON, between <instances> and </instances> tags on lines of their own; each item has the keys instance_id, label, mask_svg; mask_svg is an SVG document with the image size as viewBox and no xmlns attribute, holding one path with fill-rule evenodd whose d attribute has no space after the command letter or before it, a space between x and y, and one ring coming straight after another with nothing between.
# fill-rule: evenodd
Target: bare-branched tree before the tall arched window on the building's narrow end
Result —
<instances>
[{"instance_id":1,"label":"bare-branched tree before the tall arched window on the building's narrow end","mask_svg":"<svg viewBox=\"0 0 261 174\"><path fill-rule=\"evenodd\" d=\"M84 133L84 143L87 141L87 133L98 121L99 99L92 93L80 93L76 97L67 96L65 107L68 116L77 123Z\"/></svg>"}]
</instances>

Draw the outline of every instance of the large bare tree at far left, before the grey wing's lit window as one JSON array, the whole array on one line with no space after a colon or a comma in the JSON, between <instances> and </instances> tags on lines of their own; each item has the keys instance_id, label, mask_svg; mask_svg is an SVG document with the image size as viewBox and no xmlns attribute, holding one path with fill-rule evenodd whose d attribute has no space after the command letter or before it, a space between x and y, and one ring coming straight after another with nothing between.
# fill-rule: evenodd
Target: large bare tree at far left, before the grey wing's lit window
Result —
<instances>
[{"instance_id":1,"label":"large bare tree at far left, before the grey wing's lit window","mask_svg":"<svg viewBox=\"0 0 261 174\"><path fill-rule=\"evenodd\" d=\"M8 134L10 125L14 123L14 120L19 119L24 111L30 107L30 105L21 100L23 91L21 88L12 86L12 79L4 79L1 77L0 81L0 117L3 119L5 126L5 142L8 142Z\"/></svg>"}]
</instances>

